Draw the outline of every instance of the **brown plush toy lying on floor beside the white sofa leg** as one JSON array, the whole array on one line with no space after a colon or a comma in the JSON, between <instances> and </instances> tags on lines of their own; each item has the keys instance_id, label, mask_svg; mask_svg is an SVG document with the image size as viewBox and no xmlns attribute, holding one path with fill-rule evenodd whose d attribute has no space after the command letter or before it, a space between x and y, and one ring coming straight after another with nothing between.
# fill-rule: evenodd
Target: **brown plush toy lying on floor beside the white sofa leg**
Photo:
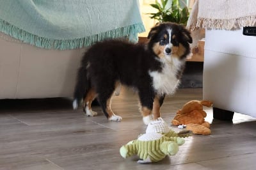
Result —
<instances>
[{"instance_id":1,"label":"brown plush toy lying on floor beside the white sofa leg","mask_svg":"<svg viewBox=\"0 0 256 170\"><path fill-rule=\"evenodd\" d=\"M186 125L187 130L194 134L211 134L210 123L205 121L206 112L203 106L211 107L212 102L206 100L191 100L177 111L177 115L172 120L172 125Z\"/></svg>"}]
</instances>

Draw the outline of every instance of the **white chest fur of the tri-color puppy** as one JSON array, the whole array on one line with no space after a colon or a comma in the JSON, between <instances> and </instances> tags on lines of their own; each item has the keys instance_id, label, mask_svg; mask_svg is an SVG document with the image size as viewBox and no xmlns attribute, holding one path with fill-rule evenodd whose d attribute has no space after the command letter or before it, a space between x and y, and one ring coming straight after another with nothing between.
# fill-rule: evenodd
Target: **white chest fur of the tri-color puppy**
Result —
<instances>
[{"instance_id":1,"label":"white chest fur of the tri-color puppy","mask_svg":"<svg viewBox=\"0 0 256 170\"><path fill-rule=\"evenodd\" d=\"M161 72L148 72L153 79L153 87L159 95L172 95L179 85L179 79L176 77L177 70L184 61L172 56L165 56L159 60L163 63L163 70Z\"/></svg>"}]
</instances>

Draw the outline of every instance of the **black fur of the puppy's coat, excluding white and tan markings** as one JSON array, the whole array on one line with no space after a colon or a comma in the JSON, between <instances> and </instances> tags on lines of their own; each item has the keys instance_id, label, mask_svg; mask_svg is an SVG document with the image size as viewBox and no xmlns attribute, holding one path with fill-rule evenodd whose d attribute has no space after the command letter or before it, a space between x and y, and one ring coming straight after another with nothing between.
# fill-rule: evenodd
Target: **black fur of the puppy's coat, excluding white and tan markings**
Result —
<instances>
[{"instance_id":1,"label":"black fur of the puppy's coat, excluding white and tan markings","mask_svg":"<svg viewBox=\"0 0 256 170\"><path fill-rule=\"evenodd\" d=\"M109 118L106 101L113 94L115 83L119 81L121 84L136 88L141 106L152 110L157 91L153 88L154 82L148 72L161 72L163 69L163 63L152 49L168 27L175 33L176 41L182 43L186 49L180 56L180 60L184 60L190 52L189 43L192 39L183 26L173 23L163 23L153 27L148 34L150 40L147 45L134 45L125 40L105 40L95 43L87 50L81 61L74 99L79 102L89 89L94 88L102 111ZM180 78L183 69L184 66L180 66L177 77ZM163 104L165 95L158 95L159 104Z\"/></svg>"}]
</instances>

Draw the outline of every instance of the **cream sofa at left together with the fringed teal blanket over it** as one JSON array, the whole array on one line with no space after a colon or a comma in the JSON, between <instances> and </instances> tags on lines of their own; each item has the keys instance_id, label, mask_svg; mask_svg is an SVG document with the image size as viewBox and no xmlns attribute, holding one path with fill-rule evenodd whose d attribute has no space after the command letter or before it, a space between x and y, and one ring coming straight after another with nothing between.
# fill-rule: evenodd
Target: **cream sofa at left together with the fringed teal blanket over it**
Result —
<instances>
[{"instance_id":1,"label":"cream sofa at left together with the fringed teal blanket over it","mask_svg":"<svg viewBox=\"0 0 256 170\"><path fill-rule=\"evenodd\" d=\"M138 0L2 1L0 99L72 97L87 47L143 31Z\"/></svg>"}]
</instances>

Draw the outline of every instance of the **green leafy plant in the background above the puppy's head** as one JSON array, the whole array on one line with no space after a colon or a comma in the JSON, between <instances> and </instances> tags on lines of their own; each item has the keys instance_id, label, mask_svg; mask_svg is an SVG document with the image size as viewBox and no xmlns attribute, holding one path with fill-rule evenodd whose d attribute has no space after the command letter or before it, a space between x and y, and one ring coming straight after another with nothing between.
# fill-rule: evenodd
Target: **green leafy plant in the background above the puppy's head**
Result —
<instances>
[{"instance_id":1,"label":"green leafy plant in the background above the puppy's head","mask_svg":"<svg viewBox=\"0 0 256 170\"><path fill-rule=\"evenodd\" d=\"M169 1L172 1L171 5ZM150 6L156 8L158 12L148 14L152 15L150 16L151 19L156 19L159 22L176 22L186 25L189 11L184 1L181 2L183 3L183 7L180 6L180 0L161 0L161 3L156 0L156 3L150 4Z\"/></svg>"}]
</instances>

